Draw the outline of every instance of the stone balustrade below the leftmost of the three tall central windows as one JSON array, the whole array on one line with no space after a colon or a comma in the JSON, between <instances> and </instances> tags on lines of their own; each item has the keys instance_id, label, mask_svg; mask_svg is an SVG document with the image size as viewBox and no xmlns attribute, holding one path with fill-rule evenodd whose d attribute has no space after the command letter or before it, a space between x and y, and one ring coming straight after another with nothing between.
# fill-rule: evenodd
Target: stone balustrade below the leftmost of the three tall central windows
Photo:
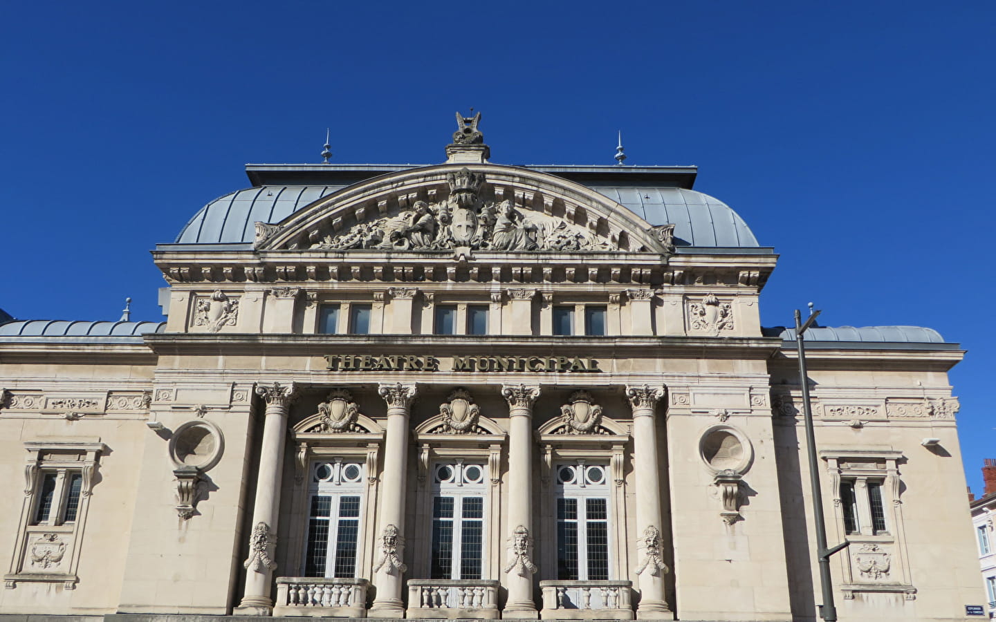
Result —
<instances>
[{"instance_id":1,"label":"stone balustrade below the leftmost of the three tall central windows","mask_svg":"<svg viewBox=\"0 0 996 622\"><path fill-rule=\"evenodd\" d=\"M274 616L367 617L367 579L282 576Z\"/></svg>"}]
</instances>

